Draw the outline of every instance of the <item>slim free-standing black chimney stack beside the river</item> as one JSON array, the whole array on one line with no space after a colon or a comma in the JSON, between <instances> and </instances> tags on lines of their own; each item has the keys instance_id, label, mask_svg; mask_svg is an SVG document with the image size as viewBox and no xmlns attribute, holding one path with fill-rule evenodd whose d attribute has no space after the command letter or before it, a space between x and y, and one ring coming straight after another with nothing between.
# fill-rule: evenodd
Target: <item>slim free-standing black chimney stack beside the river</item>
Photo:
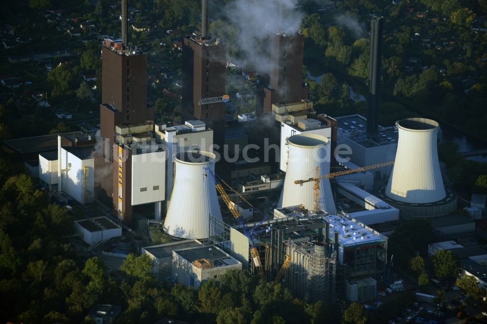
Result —
<instances>
[{"instance_id":1,"label":"slim free-standing black chimney stack beside the river","mask_svg":"<svg viewBox=\"0 0 487 324\"><path fill-rule=\"evenodd\" d=\"M367 114L367 136L376 137L379 127L378 106L380 90L380 69L382 58L383 17L371 20L370 58L369 58L369 110Z\"/></svg>"}]
</instances>

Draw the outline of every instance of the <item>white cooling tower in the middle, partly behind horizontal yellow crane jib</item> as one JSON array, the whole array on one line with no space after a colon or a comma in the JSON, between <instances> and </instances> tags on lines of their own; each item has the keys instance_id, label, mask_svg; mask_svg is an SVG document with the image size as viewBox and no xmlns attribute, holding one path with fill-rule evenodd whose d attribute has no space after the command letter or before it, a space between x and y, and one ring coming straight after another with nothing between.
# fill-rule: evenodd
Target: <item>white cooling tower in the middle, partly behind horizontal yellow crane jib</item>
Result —
<instances>
[{"instance_id":1,"label":"white cooling tower in the middle, partly behind horizontal yellow crane jib","mask_svg":"<svg viewBox=\"0 0 487 324\"><path fill-rule=\"evenodd\" d=\"M303 204L307 209L313 210L314 182L295 184L294 181L314 178L316 167L319 175L330 173L330 154L327 154L330 143L321 135L300 134L289 137L287 144L287 170L278 207ZM319 208L328 213L335 213L330 180L320 180L319 188Z\"/></svg>"}]
</instances>

